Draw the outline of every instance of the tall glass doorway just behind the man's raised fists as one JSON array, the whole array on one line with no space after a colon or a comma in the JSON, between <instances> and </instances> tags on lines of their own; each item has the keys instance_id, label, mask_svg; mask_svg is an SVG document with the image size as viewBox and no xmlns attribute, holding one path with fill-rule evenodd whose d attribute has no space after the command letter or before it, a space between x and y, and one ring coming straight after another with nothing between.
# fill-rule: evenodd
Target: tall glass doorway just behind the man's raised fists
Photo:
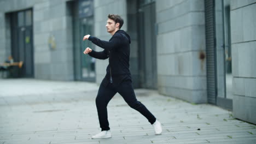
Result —
<instances>
[{"instance_id":1,"label":"tall glass doorway just behind the man's raised fists","mask_svg":"<svg viewBox=\"0 0 256 144\"><path fill-rule=\"evenodd\" d=\"M86 47L95 49L89 40L83 41L84 35L94 35L93 1L69 1L67 9L72 16L73 25L74 78L77 81L95 82L96 59L83 53Z\"/></svg>"}]
</instances>

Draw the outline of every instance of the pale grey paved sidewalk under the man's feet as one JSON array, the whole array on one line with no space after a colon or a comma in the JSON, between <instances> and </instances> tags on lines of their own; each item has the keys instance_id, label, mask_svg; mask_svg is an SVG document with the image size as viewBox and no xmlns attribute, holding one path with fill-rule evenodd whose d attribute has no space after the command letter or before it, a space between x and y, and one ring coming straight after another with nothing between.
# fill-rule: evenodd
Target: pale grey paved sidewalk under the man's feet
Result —
<instances>
[{"instance_id":1,"label":"pale grey paved sidewalk under the man's feet","mask_svg":"<svg viewBox=\"0 0 256 144\"><path fill-rule=\"evenodd\" d=\"M256 125L232 112L148 89L136 89L137 99L162 123L162 135L117 94L108 105L113 137L92 140L100 131L95 83L0 79L0 86L0 144L256 143Z\"/></svg>"}]
</instances>

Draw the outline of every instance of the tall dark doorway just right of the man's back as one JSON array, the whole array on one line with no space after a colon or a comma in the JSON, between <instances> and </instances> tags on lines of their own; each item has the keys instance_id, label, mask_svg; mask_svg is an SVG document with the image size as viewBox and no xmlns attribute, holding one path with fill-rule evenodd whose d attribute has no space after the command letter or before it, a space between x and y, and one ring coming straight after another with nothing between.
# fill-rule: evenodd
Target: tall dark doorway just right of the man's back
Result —
<instances>
[{"instance_id":1,"label":"tall dark doorway just right of the man's back","mask_svg":"<svg viewBox=\"0 0 256 144\"><path fill-rule=\"evenodd\" d=\"M139 77L141 87L157 88L154 1L138 1Z\"/></svg>"}]
</instances>

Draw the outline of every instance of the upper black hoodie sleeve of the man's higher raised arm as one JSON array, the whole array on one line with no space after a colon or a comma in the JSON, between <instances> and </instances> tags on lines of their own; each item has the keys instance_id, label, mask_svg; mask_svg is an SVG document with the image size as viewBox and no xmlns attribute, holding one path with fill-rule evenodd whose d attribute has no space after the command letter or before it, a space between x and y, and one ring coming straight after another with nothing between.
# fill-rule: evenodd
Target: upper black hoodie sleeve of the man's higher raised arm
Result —
<instances>
[{"instance_id":1,"label":"upper black hoodie sleeve of the man's higher raised arm","mask_svg":"<svg viewBox=\"0 0 256 144\"><path fill-rule=\"evenodd\" d=\"M89 37L89 40L95 45L100 46L102 49L106 49L108 51L115 49L121 44L121 40L117 35L114 35L109 41L100 40L92 36Z\"/></svg>"}]
</instances>

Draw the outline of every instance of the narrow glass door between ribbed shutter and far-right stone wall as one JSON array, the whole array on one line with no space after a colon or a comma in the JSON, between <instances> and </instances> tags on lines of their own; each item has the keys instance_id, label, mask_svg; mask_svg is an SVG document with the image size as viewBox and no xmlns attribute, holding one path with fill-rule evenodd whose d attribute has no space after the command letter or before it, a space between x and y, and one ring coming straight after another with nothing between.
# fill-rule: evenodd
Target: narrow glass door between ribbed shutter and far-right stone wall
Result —
<instances>
[{"instance_id":1,"label":"narrow glass door between ribbed shutter and far-right stone wall","mask_svg":"<svg viewBox=\"0 0 256 144\"><path fill-rule=\"evenodd\" d=\"M215 1L217 105L232 109L229 1Z\"/></svg>"}]
</instances>

